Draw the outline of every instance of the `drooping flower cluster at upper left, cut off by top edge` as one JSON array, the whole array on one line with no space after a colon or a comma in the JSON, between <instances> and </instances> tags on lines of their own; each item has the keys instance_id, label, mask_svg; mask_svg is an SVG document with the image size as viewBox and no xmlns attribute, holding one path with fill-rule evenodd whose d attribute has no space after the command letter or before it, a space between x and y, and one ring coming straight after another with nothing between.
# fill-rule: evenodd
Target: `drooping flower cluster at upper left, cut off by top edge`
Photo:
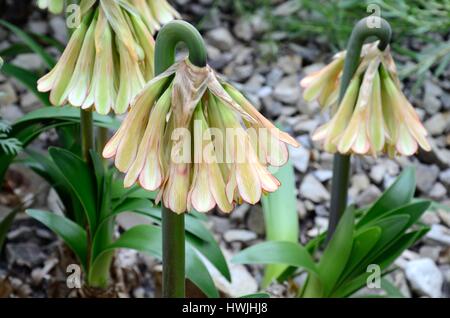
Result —
<instances>
[{"instance_id":1,"label":"drooping flower cluster at upper left, cut off by top edge","mask_svg":"<svg viewBox=\"0 0 450 318\"><path fill-rule=\"evenodd\" d=\"M153 29L133 5L140 2L81 2L81 24L56 66L38 81L39 91L50 91L53 105L68 102L83 109L93 107L100 114L128 110L140 89L154 76ZM164 12L168 7L164 2L153 8ZM167 14L164 17L169 19Z\"/></svg>"}]
</instances>

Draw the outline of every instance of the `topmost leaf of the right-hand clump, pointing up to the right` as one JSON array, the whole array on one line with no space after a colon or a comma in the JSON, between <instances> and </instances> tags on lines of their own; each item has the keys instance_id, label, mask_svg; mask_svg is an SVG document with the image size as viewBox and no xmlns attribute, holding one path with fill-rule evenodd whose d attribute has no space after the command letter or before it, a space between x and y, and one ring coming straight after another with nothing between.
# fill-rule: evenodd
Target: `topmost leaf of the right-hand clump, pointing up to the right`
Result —
<instances>
[{"instance_id":1,"label":"topmost leaf of the right-hand clump, pointing up to the right","mask_svg":"<svg viewBox=\"0 0 450 318\"><path fill-rule=\"evenodd\" d=\"M408 167L367 211L358 222L358 227L379 218L393 209L408 204L412 200L415 190L416 174L413 167Z\"/></svg>"}]
</instances>

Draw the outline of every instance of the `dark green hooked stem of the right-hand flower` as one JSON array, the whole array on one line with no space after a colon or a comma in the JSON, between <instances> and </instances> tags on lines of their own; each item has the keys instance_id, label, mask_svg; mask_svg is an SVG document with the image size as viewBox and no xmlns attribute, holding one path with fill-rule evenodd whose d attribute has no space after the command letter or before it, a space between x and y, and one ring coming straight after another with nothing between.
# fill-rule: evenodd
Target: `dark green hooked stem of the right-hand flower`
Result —
<instances>
[{"instance_id":1,"label":"dark green hooked stem of the right-hand flower","mask_svg":"<svg viewBox=\"0 0 450 318\"><path fill-rule=\"evenodd\" d=\"M380 40L378 48L384 50L391 40L392 31L386 20L379 18L379 27L370 28L368 23L369 19L373 18L364 18L360 20L353 28L350 36L347 46L347 55L345 57L344 73L341 79L339 104L344 98L348 85L358 68L364 41L368 37L375 36ZM333 162L333 180L331 181L331 208L327 240L333 235L337 224L347 207L349 178L350 156L336 154Z\"/></svg>"}]
</instances>

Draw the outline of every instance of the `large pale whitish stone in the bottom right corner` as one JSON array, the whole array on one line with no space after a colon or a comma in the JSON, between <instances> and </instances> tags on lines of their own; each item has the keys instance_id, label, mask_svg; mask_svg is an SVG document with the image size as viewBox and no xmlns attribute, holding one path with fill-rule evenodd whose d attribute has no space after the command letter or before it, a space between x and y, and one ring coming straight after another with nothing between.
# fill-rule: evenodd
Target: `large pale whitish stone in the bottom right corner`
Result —
<instances>
[{"instance_id":1,"label":"large pale whitish stone in the bottom right corner","mask_svg":"<svg viewBox=\"0 0 450 318\"><path fill-rule=\"evenodd\" d=\"M410 261L406 265L405 274L412 289L419 295L441 297L444 277L433 260L423 258Z\"/></svg>"}]
</instances>

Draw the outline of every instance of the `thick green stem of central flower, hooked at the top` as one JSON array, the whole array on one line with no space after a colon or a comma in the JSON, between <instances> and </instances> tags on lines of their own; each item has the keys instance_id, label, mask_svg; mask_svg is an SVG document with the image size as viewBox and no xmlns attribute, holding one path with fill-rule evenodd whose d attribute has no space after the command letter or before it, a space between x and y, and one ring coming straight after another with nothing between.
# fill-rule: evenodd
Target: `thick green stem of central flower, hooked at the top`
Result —
<instances>
[{"instance_id":1,"label":"thick green stem of central flower, hooked at the top","mask_svg":"<svg viewBox=\"0 0 450 318\"><path fill-rule=\"evenodd\" d=\"M159 31L155 47L155 75L175 63L176 47L184 42L192 64L206 66L206 47L200 33L187 22L173 21ZM184 214L162 208L163 231L163 297L185 296Z\"/></svg>"}]
</instances>

